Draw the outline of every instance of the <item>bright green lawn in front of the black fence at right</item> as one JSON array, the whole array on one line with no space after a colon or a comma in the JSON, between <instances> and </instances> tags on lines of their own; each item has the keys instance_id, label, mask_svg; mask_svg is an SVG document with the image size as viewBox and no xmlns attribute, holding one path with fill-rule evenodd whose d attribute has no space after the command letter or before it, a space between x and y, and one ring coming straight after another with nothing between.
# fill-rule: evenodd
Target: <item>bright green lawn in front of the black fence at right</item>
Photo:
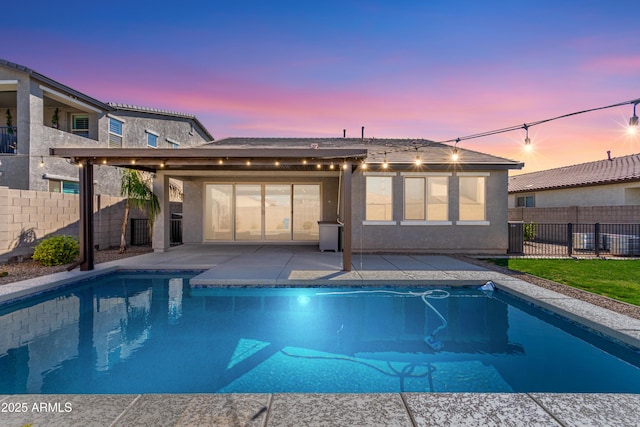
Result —
<instances>
[{"instance_id":1,"label":"bright green lawn in front of the black fence at right","mask_svg":"<svg viewBox=\"0 0 640 427\"><path fill-rule=\"evenodd\" d=\"M640 306L640 260L492 259L512 270Z\"/></svg>"}]
</instances>

